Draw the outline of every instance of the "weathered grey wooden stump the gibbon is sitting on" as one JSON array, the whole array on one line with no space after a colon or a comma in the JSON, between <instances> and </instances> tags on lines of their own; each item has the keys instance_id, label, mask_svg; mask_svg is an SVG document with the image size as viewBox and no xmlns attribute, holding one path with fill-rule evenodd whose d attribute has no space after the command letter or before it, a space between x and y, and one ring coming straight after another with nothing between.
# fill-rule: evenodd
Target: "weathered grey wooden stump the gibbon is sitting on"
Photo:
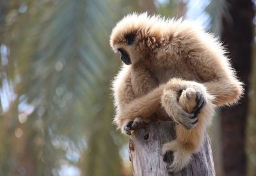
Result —
<instances>
[{"instance_id":1,"label":"weathered grey wooden stump the gibbon is sitting on","mask_svg":"<svg viewBox=\"0 0 256 176\"><path fill-rule=\"evenodd\" d=\"M175 139L175 124L172 121L153 122L132 133L129 154L135 176L167 175L215 175L209 136L205 134L204 146L193 154L191 163L179 173L166 172L161 147ZM170 159L170 162L172 162Z\"/></svg>"}]
</instances>

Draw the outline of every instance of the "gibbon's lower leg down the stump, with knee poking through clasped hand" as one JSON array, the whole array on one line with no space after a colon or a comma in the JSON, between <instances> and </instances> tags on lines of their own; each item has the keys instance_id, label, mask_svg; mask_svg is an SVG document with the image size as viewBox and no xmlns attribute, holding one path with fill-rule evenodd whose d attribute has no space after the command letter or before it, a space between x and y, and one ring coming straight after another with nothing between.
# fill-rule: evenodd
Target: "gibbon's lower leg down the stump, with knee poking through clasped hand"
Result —
<instances>
[{"instance_id":1,"label":"gibbon's lower leg down the stump, with knee poking through clasped hand","mask_svg":"<svg viewBox=\"0 0 256 176\"><path fill-rule=\"evenodd\" d=\"M198 109L198 92L193 88L182 91L179 104L186 112L195 112ZM173 162L167 166L168 172L179 172L186 166L191 154L198 151L204 142L205 128L211 121L213 105L208 101L198 114L198 124L191 130L185 129L181 125L176 126L177 138L172 142L163 145L163 154L173 152Z\"/></svg>"}]
</instances>

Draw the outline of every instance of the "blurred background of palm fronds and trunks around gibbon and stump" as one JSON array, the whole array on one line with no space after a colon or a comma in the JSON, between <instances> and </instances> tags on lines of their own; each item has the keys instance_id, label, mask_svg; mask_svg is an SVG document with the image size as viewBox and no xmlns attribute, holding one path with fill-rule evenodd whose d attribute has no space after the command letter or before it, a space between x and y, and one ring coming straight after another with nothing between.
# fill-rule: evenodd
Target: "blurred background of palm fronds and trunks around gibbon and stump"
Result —
<instances>
[{"instance_id":1,"label":"blurred background of palm fronds and trunks around gibbon and stump","mask_svg":"<svg viewBox=\"0 0 256 176\"><path fill-rule=\"evenodd\" d=\"M1 0L0 175L132 175L112 124L121 64L109 34L127 13L196 20L228 48L246 92L209 129L217 175L256 175L255 1Z\"/></svg>"}]
</instances>

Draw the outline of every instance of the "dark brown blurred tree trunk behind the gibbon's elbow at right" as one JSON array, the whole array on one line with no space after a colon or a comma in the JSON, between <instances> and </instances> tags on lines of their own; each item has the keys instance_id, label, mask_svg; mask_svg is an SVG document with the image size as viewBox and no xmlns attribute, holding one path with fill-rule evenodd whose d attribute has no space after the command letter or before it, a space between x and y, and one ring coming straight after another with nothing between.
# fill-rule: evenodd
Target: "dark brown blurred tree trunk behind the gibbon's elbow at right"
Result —
<instances>
[{"instance_id":1,"label":"dark brown blurred tree trunk behind the gibbon's elbow at right","mask_svg":"<svg viewBox=\"0 0 256 176\"><path fill-rule=\"evenodd\" d=\"M248 116L248 84L252 64L253 3L251 0L226 0L230 18L223 16L221 39L227 46L232 66L244 82L245 94L239 105L221 110L224 175L245 175L245 124Z\"/></svg>"}]
</instances>

